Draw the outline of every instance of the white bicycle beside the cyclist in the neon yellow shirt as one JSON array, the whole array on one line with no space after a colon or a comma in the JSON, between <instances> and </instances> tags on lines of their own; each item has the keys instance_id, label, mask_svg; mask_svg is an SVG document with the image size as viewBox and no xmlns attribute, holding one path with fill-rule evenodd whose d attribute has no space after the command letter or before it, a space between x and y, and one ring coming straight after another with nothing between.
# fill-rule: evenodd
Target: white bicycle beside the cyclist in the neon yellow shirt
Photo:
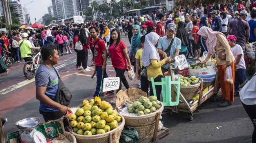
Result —
<instances>
[{"instance_id":1,"label":"white bicycle beside the cyclist in the neon yellow shirt","mask_svg":"<svg viewBox=\"0 0 256 143\"><path fill-rule=\"evenodd\" d=\"M23 73L26 79L33 79L39 65L42 63L42 55L40 52L27 55L31 55L33 58L32 61L27 61L24 64Z\"/></svg>"}]
</instances>

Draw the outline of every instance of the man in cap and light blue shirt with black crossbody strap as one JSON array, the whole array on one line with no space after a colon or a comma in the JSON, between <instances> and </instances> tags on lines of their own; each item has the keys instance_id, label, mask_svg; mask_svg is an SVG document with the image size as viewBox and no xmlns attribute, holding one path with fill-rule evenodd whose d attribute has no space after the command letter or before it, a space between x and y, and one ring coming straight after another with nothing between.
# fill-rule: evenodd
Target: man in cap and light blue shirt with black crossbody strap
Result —
<instances>
[{"instance_id":1,"label":"man in cap and light blue shirt with black crossbody strap","mask_svg":"<svg viewBox=\"0 0 256 143\"><path fill-rule=\"evenodd\" d=\"M174 57L180 54L182 42L179 38L175 37L174 35L175 31L176 31L176 25L174 23L169 23L167 25L167 36L160 37L158 40L158 45L157 45L158 53L162 55L162 58L171 57L172 59L174 59ZM169 46L170 46L170 50L168 50ZM169 65L170 64L163 65L162 67L163 73L168 71ZM177 68L177 65L174 62L171 63L171 66L172 66L172 69Z\"/></svg>"}]
</instances>

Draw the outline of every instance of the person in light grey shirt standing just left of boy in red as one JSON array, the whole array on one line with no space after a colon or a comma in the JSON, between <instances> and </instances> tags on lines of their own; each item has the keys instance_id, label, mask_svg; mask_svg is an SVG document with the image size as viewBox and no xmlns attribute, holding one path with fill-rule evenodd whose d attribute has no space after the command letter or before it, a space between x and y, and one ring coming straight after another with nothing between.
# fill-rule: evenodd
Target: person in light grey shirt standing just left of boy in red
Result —
<instances>
[{"instance_id":1,"label":"person in light grey shirt standing just left of boy in red","mask_svg":"<svg viewBox=\"0 0 256 143\"><path fill-rule=\"evenodd\" d=\"M189 53L187 54L187 58L192 59L194 57L193 47L192 47L192 42L194 40L194 38L192 36L193 24L192 24L192 21L190 20L190 16L189 15L186 16L185 20L187 22L186 30L187 30L187 33L189 34L189 47L187 48Z\"/></svg>"}]
</instances>

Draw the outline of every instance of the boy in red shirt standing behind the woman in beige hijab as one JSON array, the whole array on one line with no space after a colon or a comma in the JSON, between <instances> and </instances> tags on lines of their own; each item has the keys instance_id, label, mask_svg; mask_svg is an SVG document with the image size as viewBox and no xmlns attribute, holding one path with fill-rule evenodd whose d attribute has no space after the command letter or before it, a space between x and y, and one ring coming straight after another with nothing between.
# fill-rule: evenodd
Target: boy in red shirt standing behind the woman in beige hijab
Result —
<instances>
[{"instance_id":1,"label":"boy in red shirt standing behind the woman in beige hijab","mask_svg":"<svg viewBox=\"0 0 256 143\"><path fill-rule=\"evenodd\" d=\"M198 43L199 35L197 34L197 32L199 31L199 27L197 26L197 22L198 22L197 20L192 21L192 24L193 24L192 34L193 34L193 38L194 38L192 46L193 46L193 50L194 50L194 54L195 54L195 57L193 60L197 60L201 53L201 47Z\"/></svg>"}]
</instances>

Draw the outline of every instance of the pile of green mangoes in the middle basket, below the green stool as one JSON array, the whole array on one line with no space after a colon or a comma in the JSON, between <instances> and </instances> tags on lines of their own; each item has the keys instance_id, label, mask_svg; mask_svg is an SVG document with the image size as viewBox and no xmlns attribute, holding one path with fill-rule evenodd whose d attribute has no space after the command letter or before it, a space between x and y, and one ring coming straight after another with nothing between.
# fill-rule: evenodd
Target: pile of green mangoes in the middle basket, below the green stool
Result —
<instances>
[{"instance_id":1,"label":"pile of green mangoes in the middle basket, below the green stool","mask_svg":"<svg viewBox=\"0 0 256 143\"><path fill-rule=\"evenodd\" d=\"M138 101L130 104L127 108L129 113L137 113L140 116L153 113L160 107L160 101L158 101L156 97L151 96L149 98L140 97Z\"/></svg>"}]
</instances>

